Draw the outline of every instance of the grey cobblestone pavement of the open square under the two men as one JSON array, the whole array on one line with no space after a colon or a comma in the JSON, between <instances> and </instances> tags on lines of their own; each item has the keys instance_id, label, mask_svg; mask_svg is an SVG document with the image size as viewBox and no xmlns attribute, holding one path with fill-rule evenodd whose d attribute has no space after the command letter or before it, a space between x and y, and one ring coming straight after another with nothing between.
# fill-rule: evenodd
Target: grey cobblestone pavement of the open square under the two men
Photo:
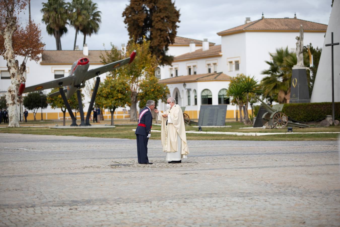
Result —
<instances>
[{"instance_id":1,"label":"grey cobblestone pavement of the open square under the two men","mask_svg":"<svg viewBox=\"0 0 340 227\"><path fill-rule=\"evenodd\" d=\"M337 141L189 141L0 134L0 226L339 226Z\"/></svg>"}]
</instances>

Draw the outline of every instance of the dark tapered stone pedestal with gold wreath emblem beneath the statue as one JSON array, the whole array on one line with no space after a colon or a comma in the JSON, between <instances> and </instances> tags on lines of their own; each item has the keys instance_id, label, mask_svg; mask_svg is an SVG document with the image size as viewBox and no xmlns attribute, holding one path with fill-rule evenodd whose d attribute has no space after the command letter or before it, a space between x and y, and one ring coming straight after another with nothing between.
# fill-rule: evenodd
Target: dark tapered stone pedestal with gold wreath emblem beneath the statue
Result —
<instances>
[{"instance_id":1,"label":"dark tapered stone pedestal with gold wreath emblem beneath the statue","mask_svg":"<svg viewBox=\"0 0 340 227\"><path fill-rule=\"evenodd\" d=\"M294 66L292 70L292 83L290 86L289 103L302 102L310 102L306 68Z\"/></svg>"}]
</instances>

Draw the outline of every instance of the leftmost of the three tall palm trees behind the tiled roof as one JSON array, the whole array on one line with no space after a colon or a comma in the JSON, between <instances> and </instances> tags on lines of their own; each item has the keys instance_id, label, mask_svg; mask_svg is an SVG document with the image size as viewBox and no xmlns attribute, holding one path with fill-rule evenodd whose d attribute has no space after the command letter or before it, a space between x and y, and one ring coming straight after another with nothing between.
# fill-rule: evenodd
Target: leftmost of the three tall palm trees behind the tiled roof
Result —
<instances>
[{"instance_id":1,"label":"leftmost of the three tall palm trees behind the tiled roof","mask_svg":"<svg viewBox=\"0 0 340 227\"><path fill-rule=\"evenodd\" d=\"M47 25L46 30L49 35L54 35L57 50L62 49L60 37L67 32L69 11L64 0L48 0L43 3L42 21Z\"/></svg>"}]
</instances>

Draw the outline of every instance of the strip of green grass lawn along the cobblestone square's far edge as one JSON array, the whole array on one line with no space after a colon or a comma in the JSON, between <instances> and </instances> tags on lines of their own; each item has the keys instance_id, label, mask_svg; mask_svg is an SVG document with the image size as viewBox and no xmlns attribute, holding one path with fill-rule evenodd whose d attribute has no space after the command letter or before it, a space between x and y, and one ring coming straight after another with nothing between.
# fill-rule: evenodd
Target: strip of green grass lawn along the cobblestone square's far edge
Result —
<instances>
[{"instance_id":1,"label":"strip of green grass lawn along the cobblestone square's far edge","mask_svg":"<svg viewBox=\"0 0 340 227\"><path fill-rule=\"evenodd\" d=\"M40 121L39 121L40 122ZM41 123L41 122L40 122ZM44 122L42 122L44 123ZM66 125L69 125L67 122ZM111 121L101 121L101 124L110 124ZM115 120L116 124L128 123L128 121ZM27 123L28 126L33 123ZM34 125L41 125L35 121ZM46 122L45 124L56 124L55 121ZM58 122L58 125L62 123ZM220 131L220 132L287 132L287 129L240 129L246 127L239 122L226 122L226 125L232 127L227 128L203 128L203 131ZM0 125L2 126L2 124ZM74 135L88 137L104 137L104 138L121 138L135 139L135 134L132 129L136 125L116 125L116 128L107 129L90 129L90 128L74 128L74 129L50 129L46 128L0 128L0 133L22 133L22 134L38 134L38 135ZM154 125L154 130L160 130L160 126ZM198 128L187 126L186 130L198 131ZM238 136L238 135L213 135L213 134L193 134L187 133L187 140L337 140L340 135L340 126L330 126L327 128L312 127L312 128L293 128L293 132L339 132L339 133L316 133L316 134L281 134L281 135L263 135L263 136ZM153 132L151 140L160 140L160 133Z\"/></svg>"}]
</instances>

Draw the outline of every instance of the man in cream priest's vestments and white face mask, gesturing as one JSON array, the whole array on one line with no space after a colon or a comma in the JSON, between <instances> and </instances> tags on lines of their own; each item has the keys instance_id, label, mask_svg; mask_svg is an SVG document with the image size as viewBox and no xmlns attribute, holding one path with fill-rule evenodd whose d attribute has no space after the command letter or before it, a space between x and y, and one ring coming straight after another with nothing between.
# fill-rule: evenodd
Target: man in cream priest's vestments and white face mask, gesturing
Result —
<instances>
[{"instance_id":1,"label":"man in cream priest's vestments and white face mask, gesturing","mask_svg":"<svg viewBox=\"0 0 340 227\"><path fill-rule=\"evenodd\" d=\"M183 112L173 97L168 98L167 108L164 113L154 110L158 114L158 120L162 121L163 151L167 152L168 163L181 163L189 154Z\"/></svg>"}]
</instances>

